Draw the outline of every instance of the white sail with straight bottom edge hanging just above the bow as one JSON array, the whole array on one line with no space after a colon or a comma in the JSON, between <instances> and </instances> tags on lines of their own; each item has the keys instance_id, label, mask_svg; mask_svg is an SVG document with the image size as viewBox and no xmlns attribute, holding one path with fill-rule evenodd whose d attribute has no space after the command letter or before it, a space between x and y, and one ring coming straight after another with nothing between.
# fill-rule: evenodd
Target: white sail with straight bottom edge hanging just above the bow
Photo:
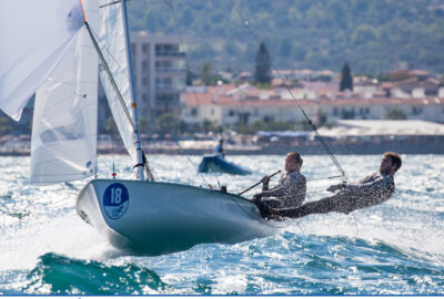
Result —
<instances>
[{"instance_id":1,"label":"white sail with straight bottom edge hanging just above the bow","mask_svg":"<svg viewBox=\"0 0 444 299\"><path fill-rule=\"evenodd\" d=\"M98 0L83 0L87 21L98 28ZM36 94L31 183L50 184L94 174L98 55L83 28Z\"/></svg>"}]
</instances>

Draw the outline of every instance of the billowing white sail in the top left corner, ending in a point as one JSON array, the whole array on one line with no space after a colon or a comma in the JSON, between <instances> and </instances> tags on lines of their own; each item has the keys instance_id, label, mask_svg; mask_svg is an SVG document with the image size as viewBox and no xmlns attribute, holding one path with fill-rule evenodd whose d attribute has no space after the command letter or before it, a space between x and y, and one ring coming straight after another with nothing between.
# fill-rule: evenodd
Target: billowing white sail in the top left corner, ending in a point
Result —
<instances>
[{"instance_id":1,"label":"billowing white sail in the top left corner, ending in a point","mask_svg":"<svg viewBox=\"0 0 444 299\"><path fill-rule=\"evenodd\" d=\"M0 9L1 110L20 118L82 24L79 0L13 0Z\"/></svg>"}]
</instances>

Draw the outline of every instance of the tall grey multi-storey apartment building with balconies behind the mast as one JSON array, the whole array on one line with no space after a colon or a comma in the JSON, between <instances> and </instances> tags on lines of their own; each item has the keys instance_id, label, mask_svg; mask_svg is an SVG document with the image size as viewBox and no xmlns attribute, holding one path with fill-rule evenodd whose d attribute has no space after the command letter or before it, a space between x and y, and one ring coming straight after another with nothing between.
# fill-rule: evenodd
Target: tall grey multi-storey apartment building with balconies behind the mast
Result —
<instances>
[{"instance_id":1,"label":"tall grey multi-storey apartment building with balconies behind the mast","mask_svg":"<svg viewBox=\"0 0 444 299\"><path fill-rule=\"evenodd\" d=\"M131 53L137 100L142 115L151 122L165 113L180 115L180 97L185 90L185 52L176 37L131 33Z\"/></svg>"}]
</instances>

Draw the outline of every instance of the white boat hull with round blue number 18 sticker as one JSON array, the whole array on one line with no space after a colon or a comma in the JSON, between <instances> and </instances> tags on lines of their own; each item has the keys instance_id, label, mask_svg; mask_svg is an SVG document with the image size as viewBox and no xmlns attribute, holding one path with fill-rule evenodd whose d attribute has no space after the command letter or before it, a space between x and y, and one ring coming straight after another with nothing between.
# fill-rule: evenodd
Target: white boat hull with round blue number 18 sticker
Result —
<instances>
[{"instance_id":1,"label":"white boat hull with round blue number 18 sticker","mask_svg":"<svg viewBox=\"0 0 444 299\"><path fill-rule=\"evenodd\" d=\"M115 247L147 255L275 233L243 197L173 183L93 179L80 192L75 208Z\"/></svg>"}]
</instances>

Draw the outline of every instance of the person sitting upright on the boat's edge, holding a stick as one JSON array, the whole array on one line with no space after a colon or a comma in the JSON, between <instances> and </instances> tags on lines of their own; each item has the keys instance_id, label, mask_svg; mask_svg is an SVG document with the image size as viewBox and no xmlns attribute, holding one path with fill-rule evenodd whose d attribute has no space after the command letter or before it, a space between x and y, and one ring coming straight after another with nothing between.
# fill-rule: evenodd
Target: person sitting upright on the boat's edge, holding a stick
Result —
<instances>
[{"instance_id":1,"label":"person sitting upright on the boat's edge, holding a stick","mask_svg":"<svg viewBox=\"0 0 444 299\"><path fill-rule=\"evenodd\" d=\"M303 159L299 153L289 153L285 158L285 171L279 184L269 189L270 177L262 178L262 192L254 195L255 202L271 207L287 208L302 205L305 199L306 179L301 174Z\"/></svg>"}]
</instances>

